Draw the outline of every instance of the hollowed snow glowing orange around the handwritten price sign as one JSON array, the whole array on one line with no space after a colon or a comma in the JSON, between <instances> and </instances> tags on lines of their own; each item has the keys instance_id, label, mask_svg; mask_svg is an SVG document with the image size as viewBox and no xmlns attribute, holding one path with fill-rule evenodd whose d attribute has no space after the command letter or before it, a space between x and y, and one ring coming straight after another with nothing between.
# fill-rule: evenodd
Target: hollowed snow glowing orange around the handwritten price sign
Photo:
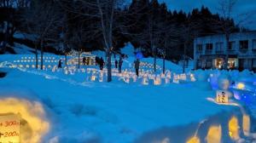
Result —
<instances>
[{"instance_id":1,"label":"hollowed snow glowing orange around the handwritten price sign","mask_svg":"<svg viewBox=\"0 0 256 143\"><path fill-rule=\"evenodd\" d=\"M49 131L49 121L39 102L7 98L1 99L0 105L0 115L20 116L20 142L41 142Z\"/></svg>"}]
</instances>

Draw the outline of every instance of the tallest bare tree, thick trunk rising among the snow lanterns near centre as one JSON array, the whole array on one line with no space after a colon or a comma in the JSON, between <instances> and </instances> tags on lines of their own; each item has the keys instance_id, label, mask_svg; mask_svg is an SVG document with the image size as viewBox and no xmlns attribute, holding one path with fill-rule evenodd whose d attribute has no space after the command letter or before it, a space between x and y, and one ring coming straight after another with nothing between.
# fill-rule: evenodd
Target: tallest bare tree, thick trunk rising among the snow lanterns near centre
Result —
<instances>
[{"instance_id":1,"label":"tallest bare tree, thick trunk rising among the snow lanterns near centre","mask_svg":"<svg viewBox=\"0 0 256 143\"><path fill-rule=\"evenodd\" d=\"M68 2L67 0L62 0ZM113 27L116 17L115 10L119 8L120 0L77 0L67 10L75 14L96 18L96 25L101 31L104 50L107 55L108 82L112 81L111 55L113 50ZM89 12L90 9L93 12ZM95 29L94 29L95 30ZM97 32L97 30L96 30Z\"/></svg>"}]
</instances>

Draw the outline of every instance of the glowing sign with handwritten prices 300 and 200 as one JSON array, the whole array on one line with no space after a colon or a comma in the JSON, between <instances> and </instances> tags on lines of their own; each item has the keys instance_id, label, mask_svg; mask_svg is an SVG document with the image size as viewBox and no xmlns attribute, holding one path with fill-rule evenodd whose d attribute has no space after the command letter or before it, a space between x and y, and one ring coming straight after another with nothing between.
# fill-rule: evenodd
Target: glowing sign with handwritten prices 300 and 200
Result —
<instances>
[{"instance_id":1,"label":"glowing sign with handwritten prices 300 and 200","mask_svg":"<svg viewBox=\"0 0 256 143\"><path fill-rule=\"evenodd\" d=\"M20 119L18 116L0 116L0 143L20 143Z\"/></svg>"}]
</instances>

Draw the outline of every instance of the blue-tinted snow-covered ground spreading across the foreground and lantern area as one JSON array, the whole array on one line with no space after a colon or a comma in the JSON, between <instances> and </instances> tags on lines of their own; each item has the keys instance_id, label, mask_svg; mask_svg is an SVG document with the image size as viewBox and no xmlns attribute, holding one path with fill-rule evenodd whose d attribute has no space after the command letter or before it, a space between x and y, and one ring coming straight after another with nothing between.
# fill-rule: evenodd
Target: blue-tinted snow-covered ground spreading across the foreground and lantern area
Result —
<instances>
[{"instance_id":1,"label":"blue-tinted snow-covered ground spreading across the foreground and lantern area","mask_svg":"<svg viewBox=\"0 0 256 143\"><path fill-rule=\"evenodd\" d=\"M181 67L166 62L167 72L161 75L162 61L158 60L158 74L154 75L153 59L144 59L142 74L137 78L132 66L134 58L129 57L125 59L123 74L113 70L113 82L106 83L106 69L56 69L63 56L46 54L44 70L40 71L33 68L33 57L0 56L0 70L7 72L6 77L0 78L0 97L2 101L12 97L42 105L44 113L30 112L44 118L41 123L49 123L41 132L45 134L40 138L42 142L182 143L193 141L195 136L203 142L207 130L216 123L223 128L222 140L231 142L228 121L234 116L242 119L242 112L238 106L211 101L216 96L218 76L231 76L235 82L231 87L236 92L234 100L246 111L246 105L253 107L252 100L247 99L255 99L256 77L250 72L181 74ZM246 86L240 87L241 83ZM241 133L241 138L246 138L245 133Z\"/></svg>"}]
</instances>

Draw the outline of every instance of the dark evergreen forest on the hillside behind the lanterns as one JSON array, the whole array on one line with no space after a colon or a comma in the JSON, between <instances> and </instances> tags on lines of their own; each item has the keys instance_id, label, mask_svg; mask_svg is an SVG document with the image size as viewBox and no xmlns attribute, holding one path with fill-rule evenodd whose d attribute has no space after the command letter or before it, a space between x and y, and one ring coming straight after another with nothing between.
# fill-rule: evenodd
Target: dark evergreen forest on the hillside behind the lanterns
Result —
<instances>
[{"instance_id":1,"label":"dark evergreen forest on the hillside behind the lanterns","mask_svg":"<svg viewBox=\"0 0 256 143\"><path fill-rule=\"evenodd\" d=\"M225 28L225 29L224 29ZM145 56L180 60L193 58L193 40L217 33L239 31L233 19L207 8L168 9L158 0L1 0L0 53L14 53L14 43L37 53L67 54L70 50L105 50L119 54L131 42ZM25 39L14 37L23 33Z\"/></svg>"}]
</instances>

